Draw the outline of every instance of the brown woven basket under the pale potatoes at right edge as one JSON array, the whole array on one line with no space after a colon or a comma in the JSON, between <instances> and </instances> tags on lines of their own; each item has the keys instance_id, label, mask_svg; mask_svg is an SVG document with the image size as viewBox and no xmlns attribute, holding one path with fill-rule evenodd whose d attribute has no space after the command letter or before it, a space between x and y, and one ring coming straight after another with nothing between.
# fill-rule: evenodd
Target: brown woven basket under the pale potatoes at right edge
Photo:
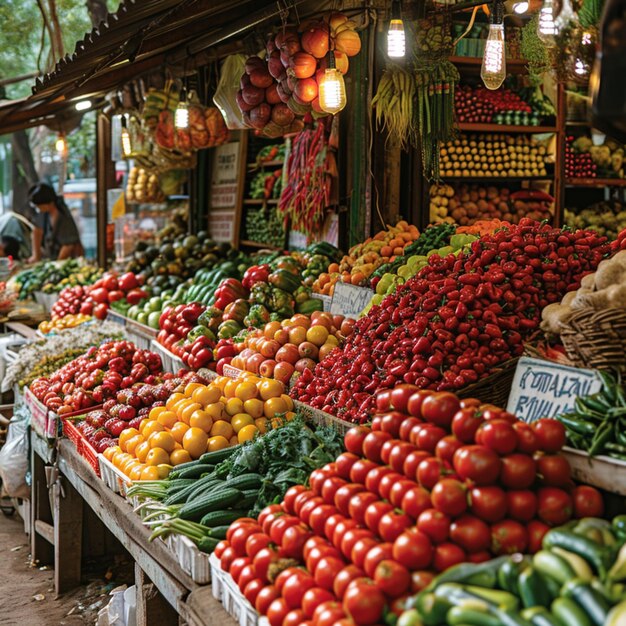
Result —
<instances>
[{"instance_id":1,"label":"brown woven basket under the pale potatoes at right edge","mask_svg":"<svg viewBox=\"0 0 626 626\"><path fill-rule=\"evenodd\" d=\"M576 367L626 372L626 311L580 309L561 324L561 341Z\"/></svg>"}]
</instances>

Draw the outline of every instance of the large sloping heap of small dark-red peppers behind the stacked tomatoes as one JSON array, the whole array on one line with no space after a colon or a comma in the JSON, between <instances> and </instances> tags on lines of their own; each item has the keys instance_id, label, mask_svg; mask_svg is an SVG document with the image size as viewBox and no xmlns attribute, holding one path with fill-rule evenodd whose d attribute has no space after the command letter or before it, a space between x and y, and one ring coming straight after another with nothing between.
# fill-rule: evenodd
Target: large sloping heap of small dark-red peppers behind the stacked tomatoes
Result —
<instances>
[{"instance_id":1,"label":"large sloping heap of small dark-red peppers behind the stacked tomatoes","mask_svg":"<svg viewBox=\"0 0 626 626\"><path fill-rule=\"evenodd\" d=\"M352 422L399 383L460 389L518 356L541 310L610 254L606 237L523 218L429 265L355 325L343 349L305 371L294 397Z\"/></svg>"}]
</instances>

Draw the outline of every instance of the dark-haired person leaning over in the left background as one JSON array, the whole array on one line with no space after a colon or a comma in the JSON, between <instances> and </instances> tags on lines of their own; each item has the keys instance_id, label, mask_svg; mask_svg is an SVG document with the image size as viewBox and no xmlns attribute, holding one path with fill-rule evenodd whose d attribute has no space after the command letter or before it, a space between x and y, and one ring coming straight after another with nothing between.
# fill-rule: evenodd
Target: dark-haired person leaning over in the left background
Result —
<instances>
[{"instance_id":1,"label":"dark-haired person leaning over in the left background","mask_svg":"<svg viewBox=\"0 0 626 626\"><path fill-rule=\"evenodd\" d=\"M29 261L39 261L42 253L59 260L82 256L85 251L78 228L63 198L50 185L39 183L30 189L28 199L38 213Z\"/></svg>"}]
</instances>

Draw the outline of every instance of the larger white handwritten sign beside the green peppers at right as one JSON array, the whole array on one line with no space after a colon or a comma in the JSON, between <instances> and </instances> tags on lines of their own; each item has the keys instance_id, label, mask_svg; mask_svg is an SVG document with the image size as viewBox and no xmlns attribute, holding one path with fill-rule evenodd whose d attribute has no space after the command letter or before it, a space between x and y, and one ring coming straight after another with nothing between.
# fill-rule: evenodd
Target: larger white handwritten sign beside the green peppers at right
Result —
<instances>
[{"instance_id":1,"label":"larger white handwritten sign beside the green peppers at right","mask_svg":"<svg viewBox=\"0 0 626 626\"><path fill-rule=\"evenodd\" d=\"M515 370L507 411L525 422L556 417L574 408L577 397L602 388L593 370L522 357Z\"/></svg>"}]
</instances>

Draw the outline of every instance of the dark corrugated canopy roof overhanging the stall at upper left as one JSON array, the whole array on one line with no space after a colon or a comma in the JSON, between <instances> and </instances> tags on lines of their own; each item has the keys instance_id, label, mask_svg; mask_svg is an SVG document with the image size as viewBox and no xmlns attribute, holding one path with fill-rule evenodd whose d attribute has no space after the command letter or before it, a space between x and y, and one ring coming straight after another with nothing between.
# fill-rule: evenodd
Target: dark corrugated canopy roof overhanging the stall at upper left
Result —
<instances>
[{"instance_id":1,"label":"dark corrugated canopy roof overhanging the stall at upper left","mask_svg":"<svg viewBox=\"0 0 626 626\"><path fill-rule=\"evenodd\" d=\"M276 0L125 0L115 13L76 43L23 100L0 103L0 135L53 124L83 98L94 100L142 74L190 58L275 19L288 5ZM318 3L319 4L319 3ZM196 59L201 62L202 59Z\"/></svg>"}]
</instances>

